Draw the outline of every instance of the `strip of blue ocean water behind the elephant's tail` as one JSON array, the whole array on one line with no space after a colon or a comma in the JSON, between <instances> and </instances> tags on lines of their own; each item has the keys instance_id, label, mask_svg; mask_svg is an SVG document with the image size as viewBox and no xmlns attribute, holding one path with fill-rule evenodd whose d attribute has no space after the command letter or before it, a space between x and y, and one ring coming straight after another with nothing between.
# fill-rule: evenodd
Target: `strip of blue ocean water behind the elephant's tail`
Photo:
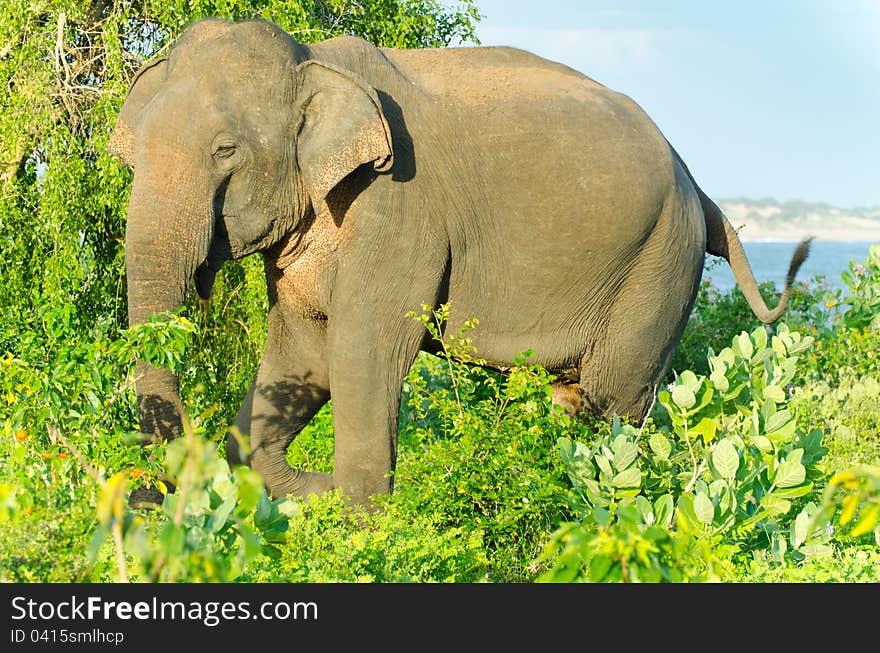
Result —
<instances>
[{"instance_id":1,"label":"strip of blue ocean water behind the elephant's tail","mask_svg":"<svg viewBox=\"0 0 880 653\"><path fill-rule=\"evenodd\" d=\"M841 280L840 273L849 267L851 260L863 263L868 257L871 244L814 240L810 245L810 255L798 271L796 279L811 282L814 276L821 275L825 277L829 287L845 290L846 284ZM773 281L779 289L785 285L788 264L796 247L795 242L743 243L755 280L758 283ZM727 261L708 254L703 279L709 279L721 291L728 291L734 285L733 273Z\"/></svg>"}]
</instances>

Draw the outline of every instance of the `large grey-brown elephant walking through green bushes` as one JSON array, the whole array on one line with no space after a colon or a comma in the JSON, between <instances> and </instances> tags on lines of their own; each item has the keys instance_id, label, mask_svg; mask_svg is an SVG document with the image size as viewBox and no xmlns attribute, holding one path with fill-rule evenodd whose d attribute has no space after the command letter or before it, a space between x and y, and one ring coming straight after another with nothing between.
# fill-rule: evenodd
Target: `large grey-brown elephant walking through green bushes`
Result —
<instances>
[{"instance_id":1,"label":"large grey-brown elephant walking through green bushes","mask_svg":"<svg viewBox=\"0 0 880 653\"><path fill-rule=\"evenodd\" d=\"M208 298L259 253L268 335L229 438L273 497L393 492L402 383L444 333L504 370L522 352L554 396L643 419L689 318L705 255L764 322L784 312L809 240L768 309L735 229L629 97L509 47L402 50L295 41L262 19L206 18L133 79L108 150L133 170L130 324ZM178 380L139 363L141 431L181 433ZM331 474L288 445L332 397ZM247 451L247 453L245 453Z\"/></svg>"}]
</instances>

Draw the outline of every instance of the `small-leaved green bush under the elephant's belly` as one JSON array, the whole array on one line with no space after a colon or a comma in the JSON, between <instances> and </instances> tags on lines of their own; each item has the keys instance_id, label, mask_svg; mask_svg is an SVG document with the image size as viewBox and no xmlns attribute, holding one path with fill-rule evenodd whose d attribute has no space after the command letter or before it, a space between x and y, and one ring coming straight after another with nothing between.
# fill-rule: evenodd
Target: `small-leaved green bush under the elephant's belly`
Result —
<instances>
[{"instance_id":1,"label":"small-leaved green bush under the elephant's belly","mask_svg":"<svg viewBox=\"0 0 880 653\"><path fill-rule=\"evenodd\" d=\"M476 320L443 338L448 307L414 317L444 352L424 356L404 385L394 503L445 528L480 531L491 580L529 580L563 511L554 444L583 427L552 405L552 377L526 363L532 352L502 376L475 358L469 332Z\"/></svg>"}]
</instances>

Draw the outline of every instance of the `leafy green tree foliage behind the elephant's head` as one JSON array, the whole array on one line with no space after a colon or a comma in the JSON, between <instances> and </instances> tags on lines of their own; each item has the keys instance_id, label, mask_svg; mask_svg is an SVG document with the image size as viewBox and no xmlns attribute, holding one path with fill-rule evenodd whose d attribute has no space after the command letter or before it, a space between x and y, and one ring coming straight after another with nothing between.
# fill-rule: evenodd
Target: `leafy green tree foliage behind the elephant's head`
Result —
<instances>
[{"instance_id":1,"label":"leafy green tree foliage behind the elephant's head","mask_svg":"<svg viewBox=\"0 0 880 653\"><path fill-rule=\"evenodd\" d=\"M474 40L472 0L8 0L0 14L0 276L6 319L49 305L125 323L130 173L105 146L129 81L193 20L263 17L294 38ZM241 276L241 272L233 273ZM2 344L2 343L0 343Z\"/></svg>"}]
</instances>

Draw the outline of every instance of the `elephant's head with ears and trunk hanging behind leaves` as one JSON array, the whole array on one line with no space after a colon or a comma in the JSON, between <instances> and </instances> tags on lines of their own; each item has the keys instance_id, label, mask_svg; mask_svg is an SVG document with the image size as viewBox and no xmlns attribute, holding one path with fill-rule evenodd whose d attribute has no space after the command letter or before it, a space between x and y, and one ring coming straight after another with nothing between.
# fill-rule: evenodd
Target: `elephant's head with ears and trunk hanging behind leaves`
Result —
<instances>
[{"instance_id":1,"label":"elephant's head with ears and trunk hanging behind leaves","mask_svg":"<svg viewBox=\"0 0 880 653\"><path fill-rule=\"evenodd\" d=\"M376 92L263 21L204 20L141 68L111 135L134 169L125 233L129 323L207 298L224 260L280 240L363 164L391 165ZM177 379L138 370L141 430L180 432Z\"/></svg>"}]
</instances>

